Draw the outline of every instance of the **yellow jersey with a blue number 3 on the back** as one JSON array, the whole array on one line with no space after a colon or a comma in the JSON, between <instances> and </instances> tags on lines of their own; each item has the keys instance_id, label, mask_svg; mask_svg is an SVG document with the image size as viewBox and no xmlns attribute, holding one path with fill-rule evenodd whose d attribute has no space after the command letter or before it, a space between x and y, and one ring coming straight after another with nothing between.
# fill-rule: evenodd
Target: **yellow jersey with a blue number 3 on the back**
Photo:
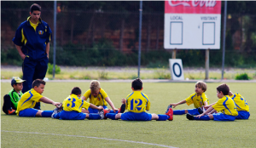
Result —
<instances>
[{"instance_id":1,"label":"yellow jersey with a blue number 3 on the back","mask_svg":"<svg viewBox=\"0 0 256 148\"><path fill-rule=\"evenodd\" d=\"M64 111L81 112L82 108L88 110L90 103L80 99L79 96L75 94L71 94L63 101L62 106Z\"/></svg>"}]
</instances>

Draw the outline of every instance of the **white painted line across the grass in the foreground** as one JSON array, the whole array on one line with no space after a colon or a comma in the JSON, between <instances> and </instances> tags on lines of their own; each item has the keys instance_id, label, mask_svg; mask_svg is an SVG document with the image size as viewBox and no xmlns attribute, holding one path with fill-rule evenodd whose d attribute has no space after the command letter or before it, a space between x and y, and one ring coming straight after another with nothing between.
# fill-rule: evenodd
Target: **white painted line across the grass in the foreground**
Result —
<instances>
[{"instance_id":1,"label":"white painted line across the grass in the foreground","mask_svg":"<svg viewBox=\"0 0 256 148\"><path fill-rule=\"evenodd\" d=\"M44 133L18 132L18 131L8 131L8 130L1 130L1 132L21 133L21 134L44 134ZM156 146L161 146L161 147L176 148L176 147L168 146L168 145L158 145L158 144L152 144L152 143L147 143L147 142L138 142L138 141L125 140L125 139L107 139L107 138L81 136L81 135L71 135L71 134L44 134L44 135L58 135L58 136L67 136L67 137L81 137L81 138L87 138L87 139L106 139L106 140L113 140L113 141L137 143L137 144L143 144L143 145L156 145Z\"/></svg>"}]
</instances>

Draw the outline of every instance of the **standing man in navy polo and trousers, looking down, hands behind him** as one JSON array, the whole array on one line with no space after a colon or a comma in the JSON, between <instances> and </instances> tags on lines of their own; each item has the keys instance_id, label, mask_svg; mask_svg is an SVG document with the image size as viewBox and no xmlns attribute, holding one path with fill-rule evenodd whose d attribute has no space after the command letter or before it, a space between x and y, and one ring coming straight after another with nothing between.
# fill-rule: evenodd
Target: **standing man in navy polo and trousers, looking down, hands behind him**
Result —
<instances>
[{"instance_id":1,"label":"standing man in navy polo and trousers, looking down, hands behind him","mask_svg":"<svg viewBox=\"0 0 256 148\"><path fill-rule=\"evenodd\" d=\"M30 16L18 27L13 42L23 60L22 92L32 88L33 80L44 79L49 61L49 41L51 30L41 18L41 6L37 3L30 7ZM35 106L40 109L40 102Z\"/></svg>"}]
</instances>

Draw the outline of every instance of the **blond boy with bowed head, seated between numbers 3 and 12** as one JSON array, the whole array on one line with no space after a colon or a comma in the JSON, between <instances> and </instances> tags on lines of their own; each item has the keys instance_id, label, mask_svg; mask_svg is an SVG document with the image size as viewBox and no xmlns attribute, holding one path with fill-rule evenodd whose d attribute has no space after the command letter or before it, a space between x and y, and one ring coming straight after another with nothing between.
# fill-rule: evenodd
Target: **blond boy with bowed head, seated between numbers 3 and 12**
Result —
<instances>
[{"instance_id":1,"label":"blond boy with bowed head, seated between numbers 3 and 12","mask_svg":"<svg viewBox=\"0 0 256 148\"><path fill-rule=\"evenodd\" d=\"M120 110L116 109L113 105L113 102L108 97L108 94L101 88L100 82L96 80L92 80L90 82L90 89L87 90L84 93L84 96L82 96L82 100L88 100L90 99L90 104L99 106L102 105L105 111L108 111L110 113L118 113L118 112L124 112L125 111L125 105L122 105L120 107ZM111 106L113 110L108 109L107 102ZM88 111L83 111L84 113L97 113L97 109L88 108Z\"/></svg>"}]
</instances>

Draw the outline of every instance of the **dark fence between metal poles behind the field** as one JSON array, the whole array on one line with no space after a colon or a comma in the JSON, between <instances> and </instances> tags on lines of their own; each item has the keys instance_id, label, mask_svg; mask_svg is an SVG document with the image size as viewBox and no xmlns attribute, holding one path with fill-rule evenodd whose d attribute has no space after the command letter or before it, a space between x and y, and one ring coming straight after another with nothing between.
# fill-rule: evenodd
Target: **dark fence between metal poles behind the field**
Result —
<instances>
[{"instance_id":1,"label":"dark fence between metal poles behind the field","mask_svg":"<svg viewBox=\"0 0 256 148\"><path fill-rule=\"evenodd\" d=\"M2 64L21 65L12 38L28 16L27 9L1 9ZM61 11L57 14L56 64L137 65L138 17L138 12ZM228 15L226 65L255 67L255 17ZM42 10L41 18L53 31L53 11ZM163 37L164 14L143 13L142 65L168 66L172 53L163 48ZM205 51L178 50L177 58L183 60L184 66L204 66ZM222 50L211 50L210 66L219 66L221 61Z\"/></svg>"}]
</instances>

